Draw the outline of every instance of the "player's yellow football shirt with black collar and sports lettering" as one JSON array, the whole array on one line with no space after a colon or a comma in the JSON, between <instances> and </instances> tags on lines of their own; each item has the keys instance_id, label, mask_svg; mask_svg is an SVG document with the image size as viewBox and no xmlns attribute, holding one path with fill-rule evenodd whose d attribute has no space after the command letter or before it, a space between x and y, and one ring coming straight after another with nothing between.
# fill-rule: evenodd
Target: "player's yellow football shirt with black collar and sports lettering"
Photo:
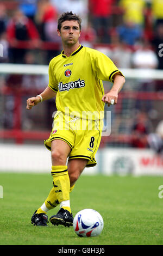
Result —
<instances>
[{"instance_id":1,"label":"player's yellow football shirt with black collar and sports lettering","mask_svg":"<svg viewBox=\"0 0 163 256\"><path fill-rule=\"evenodd\" d=\"M74 117L102 119L102 81L113 82L112 76L117 72L120 71L110 58L92 48L80 45L69 57L62 51L49 63L48 86L57 93L58 111Z\"/></svg>"}]
</instances>

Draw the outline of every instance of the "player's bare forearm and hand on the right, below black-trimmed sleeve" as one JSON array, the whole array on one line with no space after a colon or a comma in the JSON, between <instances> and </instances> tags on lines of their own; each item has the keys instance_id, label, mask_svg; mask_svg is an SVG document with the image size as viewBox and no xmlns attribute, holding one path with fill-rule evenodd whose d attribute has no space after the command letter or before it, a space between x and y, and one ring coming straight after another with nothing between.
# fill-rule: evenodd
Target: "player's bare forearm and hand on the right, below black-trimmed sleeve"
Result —
<instances>
[{"instance_id":1,"label":"player's bare forearm and hand on the right, below black-trimmed sleeve","mask_svg":"<svg viewBox=\"0 0 163 256\"><path fill-rule=\"evenodd\" d=\"M103 95L102 101L108 103L108 107L111 105L111 100L114 100L114 104L118 101L118 93L123 87L123 84L126 82L125 78L118 73L113 77L114 83L110 91Z\"/></svg>"}]
</instances>

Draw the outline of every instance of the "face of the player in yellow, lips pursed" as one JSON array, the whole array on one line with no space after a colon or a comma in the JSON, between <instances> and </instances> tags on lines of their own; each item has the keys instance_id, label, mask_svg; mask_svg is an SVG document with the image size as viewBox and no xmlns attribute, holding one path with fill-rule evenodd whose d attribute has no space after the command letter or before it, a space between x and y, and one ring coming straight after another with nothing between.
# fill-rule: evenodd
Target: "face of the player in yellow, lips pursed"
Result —
<instances>
[{"instance_id":1,"label":"face of the player in yellow, lips pursed","mask_svg":"<svg viewBox=\"0 0 163 256\"><path fill-rule=\"evenodd\" d=\"M62 22L58 35L61 36L62 42L65 45L74 45L78 42L80 36L80 28L78 21L64 21Z\"/></svg>"}]
</instances>

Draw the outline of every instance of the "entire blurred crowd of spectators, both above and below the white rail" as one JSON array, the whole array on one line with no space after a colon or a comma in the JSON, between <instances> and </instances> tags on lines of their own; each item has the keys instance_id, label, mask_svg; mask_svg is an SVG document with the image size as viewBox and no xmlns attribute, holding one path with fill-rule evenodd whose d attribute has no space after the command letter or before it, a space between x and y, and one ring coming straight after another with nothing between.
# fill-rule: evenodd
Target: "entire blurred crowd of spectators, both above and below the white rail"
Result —
<instances>
[{"instance_id":1,"label":"entire blurred crowd of spectators, both above and below the white rail","mask_svg":"<svg viewBox=\"0 0 163 256\"><path fill-rule=\"evenodd\" d=\"M3 56L0 54L0 63L49 64L49 61L62 50L60 37L57 35L58 17L65 11L72 11L83 20L80 44L105 53L118 68L161 70L163 69L162 10L163 0L1 1L0 45L3 46ZM28 95L29 92L32 93L32 89L39 92L47 83L46 77L40 75L7 76L4 84L8 92L6 96L8 100L5 101L2 117L5 128L18 129L17 124L14 125L15 105L14 97L10 93L17 95L21 87L23 95ZM132 84L131 81L127 81L124 90L142 93L160 92L163 90L163 82L148 79L137 80ZM158 114L160 107L156 105L156 101L149 99L131 102L129 98L123 99L121 111L116 108L111 111L112 133L114 134L115 131L120 135L130 134L131 147L150 147L157 153L162 152L162 122L159 128L156 128L162 119L162 115ZM54 102L49 100L45 106L49 113L45 123L51 126ZM132 112L133 109L135 114ZM41 113L40 111L40 115ZM36 118L42 129L39 113L34 115L33 119ZM154 119L155 125L152 127L150 121ZM51 129L49 126L48 129ZM47 129L47 126L44 128ZM27 113L23 113L22 129L33 129L31 118Z\"/></svg>"}]
</instances>

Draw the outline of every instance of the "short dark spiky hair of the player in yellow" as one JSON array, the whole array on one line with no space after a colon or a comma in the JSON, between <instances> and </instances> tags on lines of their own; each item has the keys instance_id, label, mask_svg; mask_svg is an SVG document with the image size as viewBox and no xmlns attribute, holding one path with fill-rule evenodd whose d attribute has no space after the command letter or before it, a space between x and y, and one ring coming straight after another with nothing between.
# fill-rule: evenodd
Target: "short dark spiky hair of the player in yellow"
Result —
<instances>
[{"instance_id":1,"label":"short dark spiky hair of the player in yellow","mask_svg":"<svg viewBox=\"0 0 163 256\"><path fill-rule=\"evenodd\" d=\"M62 22L64 21L77 21L79 23L79 28L80 28L80 31L81 31L81 23L82 23L82 19L80 19L80 17L76 14L73 14L72 11L67 11L66 13L62 13L61 16L59 17L58 19L58 29L60 31L61 29L61 24Z\"/></svg>"}]
</instances>

